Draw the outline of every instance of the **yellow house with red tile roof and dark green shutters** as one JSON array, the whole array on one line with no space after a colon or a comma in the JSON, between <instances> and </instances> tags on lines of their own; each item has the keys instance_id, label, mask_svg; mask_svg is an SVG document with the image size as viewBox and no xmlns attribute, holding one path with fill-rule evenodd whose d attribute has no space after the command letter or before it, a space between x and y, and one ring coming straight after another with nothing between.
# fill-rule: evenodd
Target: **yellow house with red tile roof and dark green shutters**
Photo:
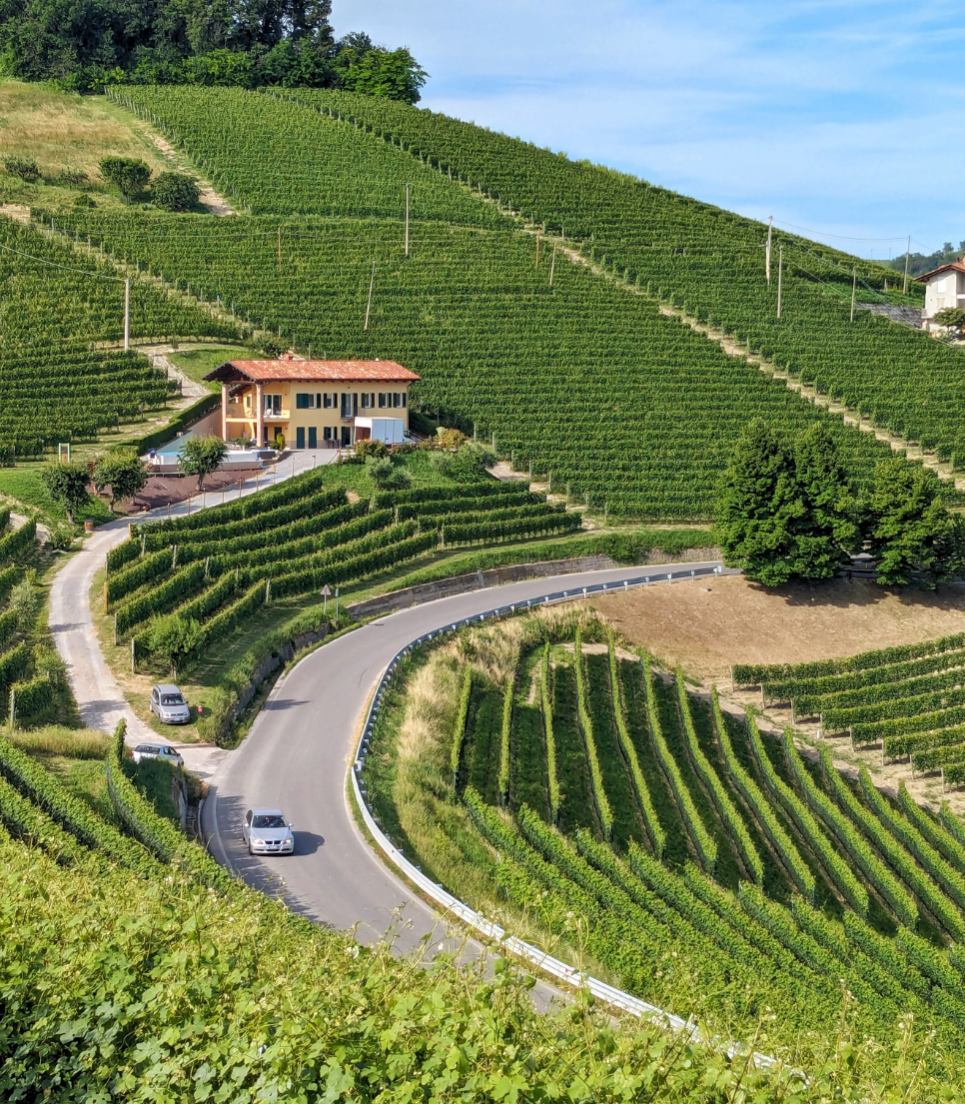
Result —
<instances>
[{"instance_id":1,"label":"yellow house with red tile roof and dark green shutters","mask_svg":"<svg viewBox=\"0 0 965 1104\"><path fill-rule=\"evenodd\" d=\"M226 360L204 376L221 384L221 435L257 445L336 448L369 436L402 439L415 372L391 360ZM400 424L401 423L401 424Z\"/></svg>"}]
</instances>

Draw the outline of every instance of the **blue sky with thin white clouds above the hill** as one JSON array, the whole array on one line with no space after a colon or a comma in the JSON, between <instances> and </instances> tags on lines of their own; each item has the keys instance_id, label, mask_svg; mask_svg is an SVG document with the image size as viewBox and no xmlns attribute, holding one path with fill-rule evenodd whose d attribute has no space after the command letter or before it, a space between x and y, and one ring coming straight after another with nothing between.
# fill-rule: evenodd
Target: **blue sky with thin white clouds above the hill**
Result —
<instances>
[{"instance_id":1,"label":"blue sky with thin white clouds above the hill","mask_svg":"<svg viewBox=\"0 0 965 1104\"><path fill-rule=\"evenodd\" d=\"M420 106L866 257L965 242L962 0L335 0Z\"/></svg>"}]
</instances>

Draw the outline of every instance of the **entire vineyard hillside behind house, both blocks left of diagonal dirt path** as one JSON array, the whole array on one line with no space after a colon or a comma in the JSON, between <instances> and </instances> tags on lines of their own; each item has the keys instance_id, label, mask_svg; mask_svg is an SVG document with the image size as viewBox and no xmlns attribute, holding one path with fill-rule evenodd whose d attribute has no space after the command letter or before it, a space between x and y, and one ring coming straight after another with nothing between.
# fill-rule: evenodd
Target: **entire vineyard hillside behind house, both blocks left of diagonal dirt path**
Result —
<instances>
[{"instance_id":1,"label":"entire vineyard hillside behind house, both blocks left of diagonal dirt path","mask_svg":"<svg viewBox=\"0 0 965 1104\"><path fill-rule=\"evenodd\" d=\"M411 367L431 412L475 425L518 470L612 513L712 516L717 478L755 414L787 433L824 421L857 481L888 454L872 435L666 317L655 298L573 263L559 243L538 243L457 174L449 180L351 123L257 94L231 91L235 114L220 117L215 132L208 120L219 96L127 88L123 102L221 173L229 194L275 215L215 222L94 211L57 215L57 225L168 283L220 296L243 321L301 351ZM324 164L310 162L315 183L286 170L276 187L276 123L287 140L298 135L327 151ZM407 256L404 177L425 181L411 191ZM395 200L373 199L370 181L384 181ZM312 214L321 193L324 220Z\"/></svg>"}]
</instances>

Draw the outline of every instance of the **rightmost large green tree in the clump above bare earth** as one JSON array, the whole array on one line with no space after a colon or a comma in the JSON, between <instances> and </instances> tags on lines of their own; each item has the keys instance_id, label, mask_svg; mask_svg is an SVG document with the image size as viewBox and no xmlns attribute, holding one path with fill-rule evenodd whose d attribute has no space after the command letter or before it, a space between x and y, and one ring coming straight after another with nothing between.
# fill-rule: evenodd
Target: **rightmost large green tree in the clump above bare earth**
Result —
<instances>
[{"instance_id":1,"label":"rightmost large green tree in the clump above bare earth","mask_svg":"<svg viewBox=\"0 0 965 1104\"><path fill-rule=\"evenodd\" d=\"M866 535L882 585L934 588L961 567L962 524L942 502L937 476L900 457L874 467Z\"/></svg>"}]
</instances>

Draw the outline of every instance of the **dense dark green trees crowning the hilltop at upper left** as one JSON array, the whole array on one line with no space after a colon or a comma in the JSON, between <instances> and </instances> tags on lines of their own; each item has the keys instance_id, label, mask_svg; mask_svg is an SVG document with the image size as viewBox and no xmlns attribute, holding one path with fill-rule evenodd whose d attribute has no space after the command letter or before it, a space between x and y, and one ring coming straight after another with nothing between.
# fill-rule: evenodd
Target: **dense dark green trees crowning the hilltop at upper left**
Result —
<instances>
[{"instance_id":1,"label":"dense dark green trees crowning the hilltop at upper left","mask_svg":"<svg viewBox=\"0 0 965 1104\"><path fill-rule=\"evenodd\" d=\"M0 74L76 91L123 84L348 88L415 103L425 71L331 0L0 0Z\"/></svg>"}]
</instances>

